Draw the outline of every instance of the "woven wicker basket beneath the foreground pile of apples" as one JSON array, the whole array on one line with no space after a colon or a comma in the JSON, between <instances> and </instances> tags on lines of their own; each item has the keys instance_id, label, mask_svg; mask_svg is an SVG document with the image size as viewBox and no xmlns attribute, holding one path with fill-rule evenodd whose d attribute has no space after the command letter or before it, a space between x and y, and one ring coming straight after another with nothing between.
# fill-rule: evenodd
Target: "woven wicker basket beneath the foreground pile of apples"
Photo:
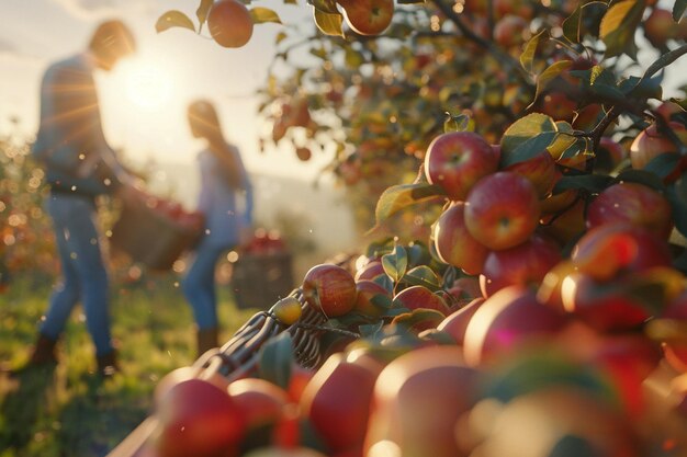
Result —
<instances>
[{"instance_id":1,"label":"woven wicker basket beneath the foreground pile of apples","mask_svg":"<svg viewBox=\"0 0 687 457\"><path fill-rule=\"evenodd\" d=\"M295 362L306 368L318 366L324 355L318 327L327 318L305 302L301 289L294 289L289 295L296 297L303 309L295 324L281 323L270 311L257 312L221 349L211 350L195 361L194 366L202 368L198 376L205 378L216 373L229 382L250 376L257 369L260 347L284 331L291 333ZM156 426L155 415L148 416L106 457L154 455L148 438Z\"/></svg>"}]
</instances>

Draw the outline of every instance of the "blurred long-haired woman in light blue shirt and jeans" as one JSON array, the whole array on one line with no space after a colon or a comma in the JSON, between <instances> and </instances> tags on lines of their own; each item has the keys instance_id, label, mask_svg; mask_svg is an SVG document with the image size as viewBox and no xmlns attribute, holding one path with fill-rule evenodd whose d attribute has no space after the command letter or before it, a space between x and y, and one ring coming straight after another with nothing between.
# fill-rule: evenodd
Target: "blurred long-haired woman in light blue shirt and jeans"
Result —
<instances>
[{"instance_id":1,"label":"blurred long-haired woman in light blue shirt and jeans","mask_svg":"<svg viewBox=\"0 0 687 457\"><path fill-rule=\"evenodd\" d=\"M200 356L218 345L215 267L223 252L243 243L251 231L254 197L239 150L225 139L214 105L192 102L188 121L191 134L206 141L198 155L202 183L198 209L204 214L205 232L181 281L196 324Z\"/></svg>"}]
</instances>

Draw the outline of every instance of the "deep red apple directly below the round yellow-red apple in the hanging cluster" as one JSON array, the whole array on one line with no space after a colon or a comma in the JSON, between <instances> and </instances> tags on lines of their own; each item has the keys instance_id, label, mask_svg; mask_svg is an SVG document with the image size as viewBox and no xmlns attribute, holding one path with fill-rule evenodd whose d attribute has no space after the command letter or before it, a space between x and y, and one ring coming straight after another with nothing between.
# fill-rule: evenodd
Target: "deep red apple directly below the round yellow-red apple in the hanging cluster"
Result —
<instances>
[{"instance_id":1,"label":"deep red apple directly below the round yellow-red apple in the hanging cluster","mask_svg":"<svg viewBox=\"0 0 687 457\"><path fill-rule=\"evenodd\" d=\"M489 297L507 286L537 287L560 261L560 248L538 235L515 248L492 251L480 276L482 293Z\"/></svg>"}]
</instances>

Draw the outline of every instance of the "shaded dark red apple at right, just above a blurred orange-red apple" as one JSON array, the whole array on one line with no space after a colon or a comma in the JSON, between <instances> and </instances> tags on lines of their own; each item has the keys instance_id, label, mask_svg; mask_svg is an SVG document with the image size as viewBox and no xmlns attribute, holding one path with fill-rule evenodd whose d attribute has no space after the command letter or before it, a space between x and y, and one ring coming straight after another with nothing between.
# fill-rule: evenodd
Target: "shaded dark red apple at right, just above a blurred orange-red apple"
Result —
<instances>
[{"instance_id":1,"label":"shaded dark red apple at right, just above a blurred orange-red apple","mask_svg":"<svg viewBox=\"0 0 687 457\"><path fill-rule=\"evenodd\" d=\"M673 208L658 192L643 184L622 182L604 190L587 207L587 228L626 222L667 239Z\"/></svg>"}]
</instances>

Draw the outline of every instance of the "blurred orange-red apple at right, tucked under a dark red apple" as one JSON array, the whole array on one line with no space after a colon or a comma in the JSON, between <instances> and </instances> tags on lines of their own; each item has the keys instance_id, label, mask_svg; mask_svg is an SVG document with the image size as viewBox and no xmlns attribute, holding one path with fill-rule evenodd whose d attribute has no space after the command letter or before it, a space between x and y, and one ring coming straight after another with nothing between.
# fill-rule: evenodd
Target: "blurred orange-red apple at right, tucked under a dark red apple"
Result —
<instances>
[{"instance_id":1,"label":"blurred orange-red apple at right, tucked under a dark red apple","mask_svg":"<svg viewBox=\"0 0 687 457\"><path fill-rule=\"evenodd\" d=\"M639 272L672 263L665 240L628 224L589 229L573 247L571 260L581 273L598 281L613 278L621 271Z\"/></svg>"}]
</instances>

